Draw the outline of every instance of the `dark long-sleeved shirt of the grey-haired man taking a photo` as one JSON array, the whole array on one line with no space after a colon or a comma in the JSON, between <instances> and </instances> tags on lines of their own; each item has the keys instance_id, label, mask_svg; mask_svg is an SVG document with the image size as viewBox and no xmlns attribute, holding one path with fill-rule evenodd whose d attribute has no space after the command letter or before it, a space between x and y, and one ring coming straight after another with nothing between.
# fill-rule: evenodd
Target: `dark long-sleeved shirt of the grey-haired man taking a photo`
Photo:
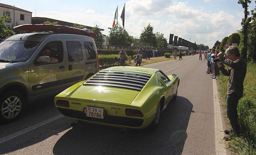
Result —
<instances>
[{"instance_id":1,"label":"dark long-sleeved shirt of the grey-haired man taking a photo","mask_svg":"<svg viewBox=\"0 0 256 155\"><path fill-rule=\"evenodd\" d=\"M242 58L239 58L236 61L231 61L224 57L220 57L219 60L230 67L227 70L223 66L219 67L222 74L229 76L229 82L227 83L227 95L235 92L235 94L241 98L244 91L243 83L246 75L246 62Z\"/></svg>"}]
</instances>

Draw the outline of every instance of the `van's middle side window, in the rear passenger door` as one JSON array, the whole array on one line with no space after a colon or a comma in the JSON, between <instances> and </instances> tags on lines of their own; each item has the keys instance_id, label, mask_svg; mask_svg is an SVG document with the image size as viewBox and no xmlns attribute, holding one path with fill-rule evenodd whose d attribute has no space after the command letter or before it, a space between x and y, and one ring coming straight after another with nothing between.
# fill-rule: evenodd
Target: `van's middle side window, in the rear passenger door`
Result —
<instances>
[{"instance_id":1,"label":"van's middle side window, in the rear passenger door","mask_svg":"<svg viewBox=\"0 0 256 155\"><path fill-rule=\"evenodd\" d=\"M67 54L70 62L84 60L83 49L80 42L67 41L66 45L67 45Z\"/></svg>"}]
</instances>

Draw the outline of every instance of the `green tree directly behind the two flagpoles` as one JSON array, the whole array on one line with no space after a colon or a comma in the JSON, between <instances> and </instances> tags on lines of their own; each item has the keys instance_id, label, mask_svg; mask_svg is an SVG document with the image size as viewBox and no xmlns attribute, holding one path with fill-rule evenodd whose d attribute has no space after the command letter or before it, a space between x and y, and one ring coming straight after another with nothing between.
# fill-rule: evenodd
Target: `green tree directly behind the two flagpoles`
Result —
<instances>
[{"instance_id":1,"label":"green tree directly behind the two flagpoles","mask_svg":"<svg viewBox=\"0 0 256 155\"><path fill-rule=\"evenodd\" d=\"M127 31L123 30L123 27L121 27L118 22L112 28L110 36L110 45L131 46L131 43L133 43L133 37L129 36Z\"/></svg>"}]
</instances>

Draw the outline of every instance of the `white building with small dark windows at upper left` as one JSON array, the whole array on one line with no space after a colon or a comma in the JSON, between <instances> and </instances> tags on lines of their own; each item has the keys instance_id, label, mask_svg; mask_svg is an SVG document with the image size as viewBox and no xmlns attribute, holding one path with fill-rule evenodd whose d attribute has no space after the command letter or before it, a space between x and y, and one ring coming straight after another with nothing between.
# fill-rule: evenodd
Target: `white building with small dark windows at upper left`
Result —
<instances>
[{"instance_id":1,"label":"white building with small dark windows at upper left","mask_svg":"<svg viewBox=\"0 0 256 155\"><path fill-rule=\"evenodd\" d=\"M5 24L7 27L14 27L16 24L31 24L32 12L0 3L0 16L10 16L10 20L5 21Z\"/></svg>"}]
</instances>

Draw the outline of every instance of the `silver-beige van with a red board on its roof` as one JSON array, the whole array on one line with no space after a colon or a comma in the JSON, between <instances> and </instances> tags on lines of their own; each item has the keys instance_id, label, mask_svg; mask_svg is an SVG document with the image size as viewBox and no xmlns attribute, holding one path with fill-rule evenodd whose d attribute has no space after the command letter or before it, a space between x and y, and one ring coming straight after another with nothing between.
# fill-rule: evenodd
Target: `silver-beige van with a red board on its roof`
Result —
<instances>
[{"instance_id":1,"label":"silver-beige van with a red board on its roof","mask_svg":"<svg viewBox=\"0 0 256 155\"><path fill-rule=\"evenodd\" d=\"M15 28L58 33L15 34L0 43L0 121L4 123L18 119L27 103L56 95L99 71L90 31L55 25ZM80 31L83 35L78 35Z\"/></svg>"}]
</instances>

